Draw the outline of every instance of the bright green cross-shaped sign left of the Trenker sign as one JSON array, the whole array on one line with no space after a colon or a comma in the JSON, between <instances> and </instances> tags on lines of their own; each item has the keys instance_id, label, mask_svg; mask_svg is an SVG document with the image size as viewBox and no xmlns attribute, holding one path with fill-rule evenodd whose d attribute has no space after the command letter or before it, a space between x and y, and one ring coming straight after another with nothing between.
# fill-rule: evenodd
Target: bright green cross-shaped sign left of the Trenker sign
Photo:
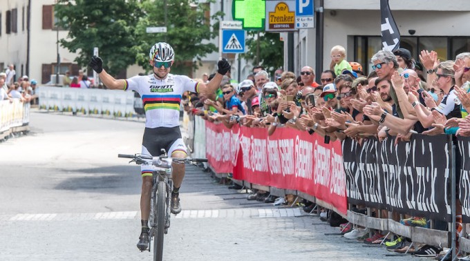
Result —
<instances>
[{"instance_id":1,"label":"bright green cross-shaped sign left of the Trenker sign","mask_svg":"<svg viewBox=\"0 0 470 261\"><path fill-rule=\"evenodd\" d=\"M263 30L265 26L265 0L234 0L232 3L234 20L242 22L244 30Z\"/></svg>"}]
</instances>

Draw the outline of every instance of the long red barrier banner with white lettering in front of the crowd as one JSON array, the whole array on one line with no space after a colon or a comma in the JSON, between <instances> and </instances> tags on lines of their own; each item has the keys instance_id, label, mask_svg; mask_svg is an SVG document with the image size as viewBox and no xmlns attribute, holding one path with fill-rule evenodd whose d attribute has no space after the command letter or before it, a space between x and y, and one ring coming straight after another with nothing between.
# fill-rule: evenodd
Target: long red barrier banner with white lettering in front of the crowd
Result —
<instances>
[{"instance_id":1,"label":"long red barrier banner with white lettering in front of the crowd","mask_svg":"<svg viewBox=\"0 0 470 261\"><path fill-rule=\"evenodd\" d=\"M225 170L232 166L232 171L223 172L234 173L236 180L302 191L346 215L340 142L325 144L317 134L292 128L277 128L267 136L266 128L236 126L228 130L222 124L209 123L207 127L207 158L212 166L214 163Z\"/></svg>"}]
</instances>

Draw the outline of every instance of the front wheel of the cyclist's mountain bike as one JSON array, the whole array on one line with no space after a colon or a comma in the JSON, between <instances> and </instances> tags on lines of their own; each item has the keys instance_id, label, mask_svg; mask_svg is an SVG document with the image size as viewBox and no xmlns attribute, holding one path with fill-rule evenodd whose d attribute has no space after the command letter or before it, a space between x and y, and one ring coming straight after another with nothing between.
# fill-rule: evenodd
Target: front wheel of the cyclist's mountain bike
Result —
<instances>
[{"instance_id":1,"label":"front wheel of the cyclist's mountain bike","mask_svg":"<svg viewBox=\"0 0 470 261\"><path fill-rule=\"evenodd\" d=\"M163 235L164 235L164 223L165 223L165 204L167 197L167 184L165 182L158 182L157 189L157 200L155 210L156 225L157 229L154 229L155 234L153 235L153 260L161 261L163 258Z\"/></svg>"}]
</instances>

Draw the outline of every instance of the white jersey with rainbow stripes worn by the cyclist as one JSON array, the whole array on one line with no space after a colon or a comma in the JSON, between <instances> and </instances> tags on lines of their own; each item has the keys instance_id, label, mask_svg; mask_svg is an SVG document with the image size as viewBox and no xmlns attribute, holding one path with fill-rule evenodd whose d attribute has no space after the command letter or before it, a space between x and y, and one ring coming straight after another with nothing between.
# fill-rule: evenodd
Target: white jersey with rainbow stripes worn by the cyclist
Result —
<instances>
[{"instance_id":1,"label":"white jersey with rainbow stripes worn by the cyclist","mask_svg":"<svg viewBox=\"0 0 470 261\"><path fill-rule=\"evenodd\" d=\"M180 101L182 93L198 92L198 82L184 75L169 73L164 79L155 75L134 76L126 79L124 90L135 90L142 97L145 110L145 127L180 126Z\"/></svg>"}]
</instances>

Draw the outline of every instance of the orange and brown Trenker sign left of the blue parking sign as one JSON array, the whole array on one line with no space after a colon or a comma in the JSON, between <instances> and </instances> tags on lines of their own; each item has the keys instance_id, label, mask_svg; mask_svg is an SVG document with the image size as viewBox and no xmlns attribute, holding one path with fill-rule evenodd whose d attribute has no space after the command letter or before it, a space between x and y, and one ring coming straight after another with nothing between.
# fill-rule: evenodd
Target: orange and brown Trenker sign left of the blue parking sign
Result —
<instances>
[{"instance_id":1,"label":"orange and brown Trenker sign left of the blue parking sign","mask_svg":"<svg viewBox=\"0 0 470 261\"><path fill-rule=\"evenodd\" d=\"M266 31L295 31L295 5L296 0L266 0Z\"/></svg>"}]
</instances>

